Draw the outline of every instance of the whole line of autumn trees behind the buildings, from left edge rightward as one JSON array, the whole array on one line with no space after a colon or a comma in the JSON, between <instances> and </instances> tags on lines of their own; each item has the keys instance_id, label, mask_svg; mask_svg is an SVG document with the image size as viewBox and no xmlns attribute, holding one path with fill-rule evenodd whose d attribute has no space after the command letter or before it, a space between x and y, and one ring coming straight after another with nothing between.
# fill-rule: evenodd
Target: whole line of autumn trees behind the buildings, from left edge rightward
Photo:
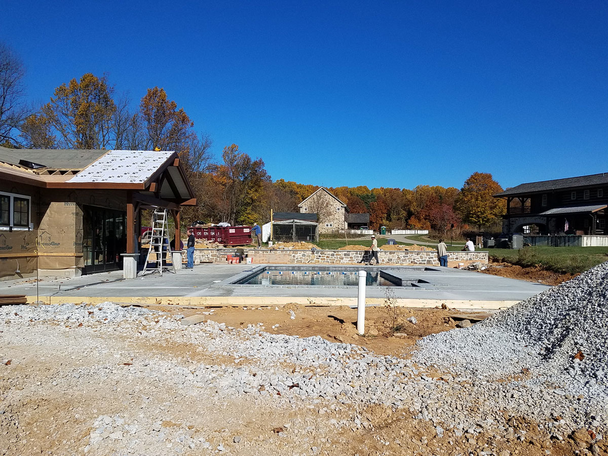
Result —
<instances>
[{"instance_id":1,"label":"whole line of autumn trees behind the buildings, from left edge rightward","mask_svg":"<svg viewBox=\"0 0 608 456\"><path fill-rule=\"evenodd\" d=\"M134 103L119 94L108 75L87 73L61 83L42 106L27 106L24 66L0 43L0 145L12 148L174 150L195 190L198 206L182 213L195 220L230 224L266 223L271 209L297 212L316 185L272 181L261 158L231 144L214 159L212 140L163 88L148 88ZM418 185L406 188L330 187L351 213L369 213L370 227L433 229L452 224L481 228L495 223L505 202L492 195L502 187L488 173L473 173L460 189ZM323 208L317 210L319 222Z\"/></svg>"}]
</instances>

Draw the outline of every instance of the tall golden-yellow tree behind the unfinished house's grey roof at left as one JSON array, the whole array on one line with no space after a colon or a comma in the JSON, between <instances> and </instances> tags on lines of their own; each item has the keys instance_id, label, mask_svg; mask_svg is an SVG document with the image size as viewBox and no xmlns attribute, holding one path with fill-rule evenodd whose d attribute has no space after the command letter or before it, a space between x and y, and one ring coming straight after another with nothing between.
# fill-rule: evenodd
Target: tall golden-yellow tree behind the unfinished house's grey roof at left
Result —
<instances>
[{"instance_id":1,"label":"tall golden-yellow tree behind the unfinished house's grey roof at left","mask_svg":"<svg viewBox=\"0 0 608 456\"><path fill-rule=\"evenodd\" d=\"M57 134L60 147L69 149L111 148L114 139L114 88L108 78L86 73L62 84L41 108Z\"/></svg>"}]
</instances>

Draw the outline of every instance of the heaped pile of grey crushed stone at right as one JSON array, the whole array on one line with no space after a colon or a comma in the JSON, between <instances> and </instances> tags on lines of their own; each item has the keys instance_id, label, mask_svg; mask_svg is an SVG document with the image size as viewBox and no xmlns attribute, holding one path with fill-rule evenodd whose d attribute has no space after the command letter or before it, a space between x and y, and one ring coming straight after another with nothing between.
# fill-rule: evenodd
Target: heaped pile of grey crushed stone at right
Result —
<instances>
[{"instance_id":1,"label":"heaped pile of grey crushed stone at right","mask_svg":"<svg viewBox=\"0 0 608 456\"><path fill-rule=\"evenodd\" d=\"M608 262L465 330L418 342L415 358L482 378L530 371L568 393L608 398Z\"/></svg>"}]
</instances>

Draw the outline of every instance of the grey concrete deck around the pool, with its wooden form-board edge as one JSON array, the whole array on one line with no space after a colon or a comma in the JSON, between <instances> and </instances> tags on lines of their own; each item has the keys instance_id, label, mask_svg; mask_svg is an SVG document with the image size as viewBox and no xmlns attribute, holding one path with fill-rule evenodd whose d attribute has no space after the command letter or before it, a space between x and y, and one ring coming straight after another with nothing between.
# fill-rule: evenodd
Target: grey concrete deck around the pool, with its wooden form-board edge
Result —
<instances>
[{"instance_id":1,"label":"grey concrete deck around the pool, with its wooden form-board edge","mask_svg":"<svg viewBox=\"0 0 608 456\"><path fill-rule=\"evenodd\" d=\"M250 274L261 266L289 267L288 264L199 264L193 270L177 274L165 272L162 277L148 274L124 280L122 271L83 275L75 278L32 278L0 282L0 294L24 294L28 302L111 301L142 305L187 306L264 306L299 303L301 305L356 305L357 287L325 286L249 286L232 285L234 276ZM302 267L302 265L297 265ZM314 266L311 266L314 269ZM339 267L338 267L339 269ZM357 268L362 269L362 268ZM363 268L367 269L367 267ZM367 304L381 305L390 289L398 305L435 307L445 303L450 308L499 309L550 288L541 283L497 277L474 271L439 268L386 267L371 268L390 271L409 283L422 279L416 286L368 286Z\"/></svg>"}]
</instances>

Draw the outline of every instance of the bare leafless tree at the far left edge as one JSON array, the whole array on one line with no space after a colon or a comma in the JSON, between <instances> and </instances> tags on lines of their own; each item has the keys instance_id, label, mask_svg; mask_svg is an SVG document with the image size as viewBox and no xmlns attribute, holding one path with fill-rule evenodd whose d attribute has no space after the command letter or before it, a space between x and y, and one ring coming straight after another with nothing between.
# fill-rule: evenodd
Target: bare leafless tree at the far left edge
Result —
<instances>
[{"instance_id":1,"label":"bare leafless tree at the far left edge","mask_svg":"<svg viewBox=\"0 0 608 456\"><path fill-rule=\"evenodd\" d=\"M24 104L25 75L21 60L0 43L0 143L18 142L16 132L29 114Z\"/></svg>"}]
</instances>

